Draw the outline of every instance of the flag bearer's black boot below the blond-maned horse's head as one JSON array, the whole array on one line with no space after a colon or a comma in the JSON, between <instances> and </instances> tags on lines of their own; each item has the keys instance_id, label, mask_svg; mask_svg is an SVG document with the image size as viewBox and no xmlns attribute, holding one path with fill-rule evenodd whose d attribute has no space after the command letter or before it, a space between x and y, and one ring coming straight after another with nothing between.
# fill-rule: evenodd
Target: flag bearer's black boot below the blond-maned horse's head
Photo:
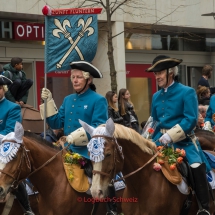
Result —
<instances>
[{"instance_id":1,"label":"flag bearer's black boot below the blond-maned horse's head","mask_svg":"<svg viewBox=\"0 0 215 215\"><path fill-rule=\"evenodd\" d=\"M107 213L106 215L117 215L117 204L114 201L114 197L116 197L116 191L114 184L108 185L108 201L107 201Z\"/></svg>"}]
</instances>

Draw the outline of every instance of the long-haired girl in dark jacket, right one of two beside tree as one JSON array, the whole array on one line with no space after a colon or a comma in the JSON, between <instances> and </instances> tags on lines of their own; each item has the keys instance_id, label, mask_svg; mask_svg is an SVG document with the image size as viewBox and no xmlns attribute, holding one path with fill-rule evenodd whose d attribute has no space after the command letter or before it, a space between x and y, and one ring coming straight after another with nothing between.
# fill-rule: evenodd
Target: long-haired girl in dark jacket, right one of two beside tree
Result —
<instances>
[{"instance_id":1,"label":"long-haired girl in dark jacket, right one of two beside tree","mask_svg":"<svg viewBox=\"0 0 215 215\"><path fill-rule=\"evenodd\" d=\"M130 96L131 95L127 89L123 88L119 91L119 113L124 119L125 126L133 128L139 133L139 122L137 115L134 111L134 105L130 100Z\"/></svg>"}]
</instances>

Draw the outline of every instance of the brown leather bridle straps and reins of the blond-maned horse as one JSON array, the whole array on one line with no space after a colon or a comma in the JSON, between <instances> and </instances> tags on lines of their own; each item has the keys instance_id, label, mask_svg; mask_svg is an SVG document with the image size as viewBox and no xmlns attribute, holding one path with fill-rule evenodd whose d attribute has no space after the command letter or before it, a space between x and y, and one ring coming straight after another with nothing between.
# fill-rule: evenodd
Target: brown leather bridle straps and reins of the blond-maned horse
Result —
<instances>
[{"instance_id":1,"label":"brown leather bridle straps and reins of the blond-maned horse","mask_svg":"<svg viewBox=\"0 0 215 215\"><path fill-rule=\"evenodd\" d=\"M117 140L116 140L115 137L108 137L108 136L105 136L105 135L94 135L94 136L92 136L92 138L96 138L96 137L103 137L103 138L105 138L105 139L110 139L112 142L114 142L115 145L117 146L118 152L120 152L121 157L124 159L123 153L122 153L121 150L119 150L119 147L120 147L120 146L119 146L119 144L117 143ZM133 172L131 172L131 173L125 175L125 176L122 176L122 177L120 177L120 178L118 178L118 179L115 179L115 180L113 180L113 181L116 182L116 181L123 180L123 179L128 178L129 176L131 176L131 175L133 175L133 174L139 172L141 169L143 169L145 166L147 166L149 163L151 163L151 162L158 156L159 153L160 153L160 151L157 151L157 152L156 152L145 164L143 164L143 166L141 166L140 168L134 170ZM115 158L114 158L114 163L115 163ZM112 172L112 171L111 171L111 172ZM99 173L100 175L110 176L110 174L105 173L105 172L102 172L102 171L98 171L98 170L93 170L93 173Z\"/></svg>"}]
</instances>

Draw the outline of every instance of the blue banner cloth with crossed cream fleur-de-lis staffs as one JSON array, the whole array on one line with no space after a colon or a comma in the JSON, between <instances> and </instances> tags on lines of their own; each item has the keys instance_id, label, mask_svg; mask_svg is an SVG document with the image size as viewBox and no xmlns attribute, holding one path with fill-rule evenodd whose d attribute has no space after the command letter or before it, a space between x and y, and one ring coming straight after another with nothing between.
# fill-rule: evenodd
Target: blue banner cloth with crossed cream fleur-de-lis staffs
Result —
<instances>
[{"instance_id":1,"label":"blue banner cloth with crossed cream fleur-de-lis staffs","mask_svg":"<svg viewBox=\"0 0 215 215\"><path fill-rule=\"evenodd\" d=\"M45 17L45 73L70 70L73 61L91 62L98 43L97 14Z\"/></svg>"}]
</instances>

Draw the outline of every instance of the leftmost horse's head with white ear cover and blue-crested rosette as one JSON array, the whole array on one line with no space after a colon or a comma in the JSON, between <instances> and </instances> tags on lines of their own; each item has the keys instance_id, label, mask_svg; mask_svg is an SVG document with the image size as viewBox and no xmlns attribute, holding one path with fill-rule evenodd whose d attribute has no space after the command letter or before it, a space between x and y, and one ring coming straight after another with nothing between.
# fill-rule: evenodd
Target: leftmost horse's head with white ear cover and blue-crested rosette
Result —
<instances>
[{"instance_id":1,"label":"leftmost horse's head with white ear cover and blue-crested rosette","mask_svg":"<svg viewBox=\"0 0 215 215\"><path fill-rule=\"evenodd\" d=\"M14 132L4 136L0 145L0 199L30 172L30 161L23 145L24 129L16 122ZM25 168L24 166L27 166ZM24 171L23 171L24 169Z\"/></svg>"}]
</instances>

